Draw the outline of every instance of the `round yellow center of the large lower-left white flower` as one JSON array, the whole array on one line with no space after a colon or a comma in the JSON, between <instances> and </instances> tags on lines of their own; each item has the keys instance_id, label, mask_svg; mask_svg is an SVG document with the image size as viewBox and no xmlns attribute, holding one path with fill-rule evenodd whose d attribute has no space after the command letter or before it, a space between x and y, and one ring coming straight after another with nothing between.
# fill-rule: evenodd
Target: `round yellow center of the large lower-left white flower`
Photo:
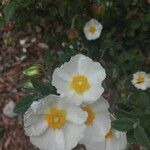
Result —
<instances>
[{"instance_id":1,"label":"round yellow center of the large lower-left white flower","mask_svg":"<svg viewBox=\"0 0 150 150\"><path fill-rule=\"evenodd\" d=\"M60 129L66 123L66 111L64 109L53 107L48 111L45 119L48 126L52 129Z\"/></svg>"}]
</instances>

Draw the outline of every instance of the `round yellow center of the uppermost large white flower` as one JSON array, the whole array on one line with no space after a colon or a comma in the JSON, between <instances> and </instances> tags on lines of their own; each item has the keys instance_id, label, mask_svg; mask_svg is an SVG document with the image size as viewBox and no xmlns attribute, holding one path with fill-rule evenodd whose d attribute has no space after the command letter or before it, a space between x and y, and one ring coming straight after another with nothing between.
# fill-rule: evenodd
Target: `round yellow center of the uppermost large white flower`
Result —
<instances>
[{"instance_id":1,"label":"round yellow center of the uppermost large white flower","mask_svg":"<svg viewBox=\"0 0 150 150\"><path fill-rule=\"evenodd\" d=\"M82 95L90 88L88 79L83 75L75 75L71 82L71 89L79 95Z\"/></svg>"}]
</instances>

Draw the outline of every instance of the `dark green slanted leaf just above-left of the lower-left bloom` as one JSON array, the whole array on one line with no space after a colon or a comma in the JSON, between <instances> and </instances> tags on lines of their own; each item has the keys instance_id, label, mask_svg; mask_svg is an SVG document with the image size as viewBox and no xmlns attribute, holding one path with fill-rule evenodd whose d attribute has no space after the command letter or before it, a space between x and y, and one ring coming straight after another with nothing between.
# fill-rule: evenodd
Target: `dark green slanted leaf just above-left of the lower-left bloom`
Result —
<instances>
[{"instance_id":1,"label":"dark green slanted leaf just above-left of the lower-left bloom","mask_svg":"<svg viewBox=\"0 0 150 150\"><path fill-rule=\"evenodd\" d=\"M35 100L35 95L24 96L20 102L15 106L14 112L15 113L24 113Z\"/></svg>"}]
</instances>

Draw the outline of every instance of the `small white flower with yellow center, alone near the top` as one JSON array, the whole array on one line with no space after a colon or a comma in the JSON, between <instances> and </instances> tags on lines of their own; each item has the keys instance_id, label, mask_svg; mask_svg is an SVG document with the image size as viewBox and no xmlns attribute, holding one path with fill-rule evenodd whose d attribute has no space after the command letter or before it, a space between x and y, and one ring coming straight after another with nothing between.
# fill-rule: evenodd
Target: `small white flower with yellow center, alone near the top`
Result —
<instances>
[{"instance_id":1,"label":"small white flower with yellow center, alone near the top","mask_svg":"<svg viewBox=\"0 0 150 150\"><path fill-rule=\"evenodd\" d=\"M95 40L100 37L102 25L96 19L91 19L84 26L84 34L88 40Z\"/></svg>"}]
</instances>

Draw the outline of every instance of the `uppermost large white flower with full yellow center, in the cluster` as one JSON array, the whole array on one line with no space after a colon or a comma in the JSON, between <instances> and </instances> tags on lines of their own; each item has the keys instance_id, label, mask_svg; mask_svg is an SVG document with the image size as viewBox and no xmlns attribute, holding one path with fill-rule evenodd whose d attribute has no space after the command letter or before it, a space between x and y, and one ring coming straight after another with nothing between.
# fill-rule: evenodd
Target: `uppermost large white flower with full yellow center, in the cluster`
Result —
<instances>
[{"instance_id":1,"label":"uppermost large white flower with full yellow center, in the cluster","mask_svg":"<svg viewBox=\"0 0 150 150\"><path fill-rule=\"evenodd\" d=\"M93 103L102 95L105 77L100 63L78 54L54 70L52 85L61 96L68 98L68 102L80 105L82 102Z\"/></svg>"}]
</instances>

